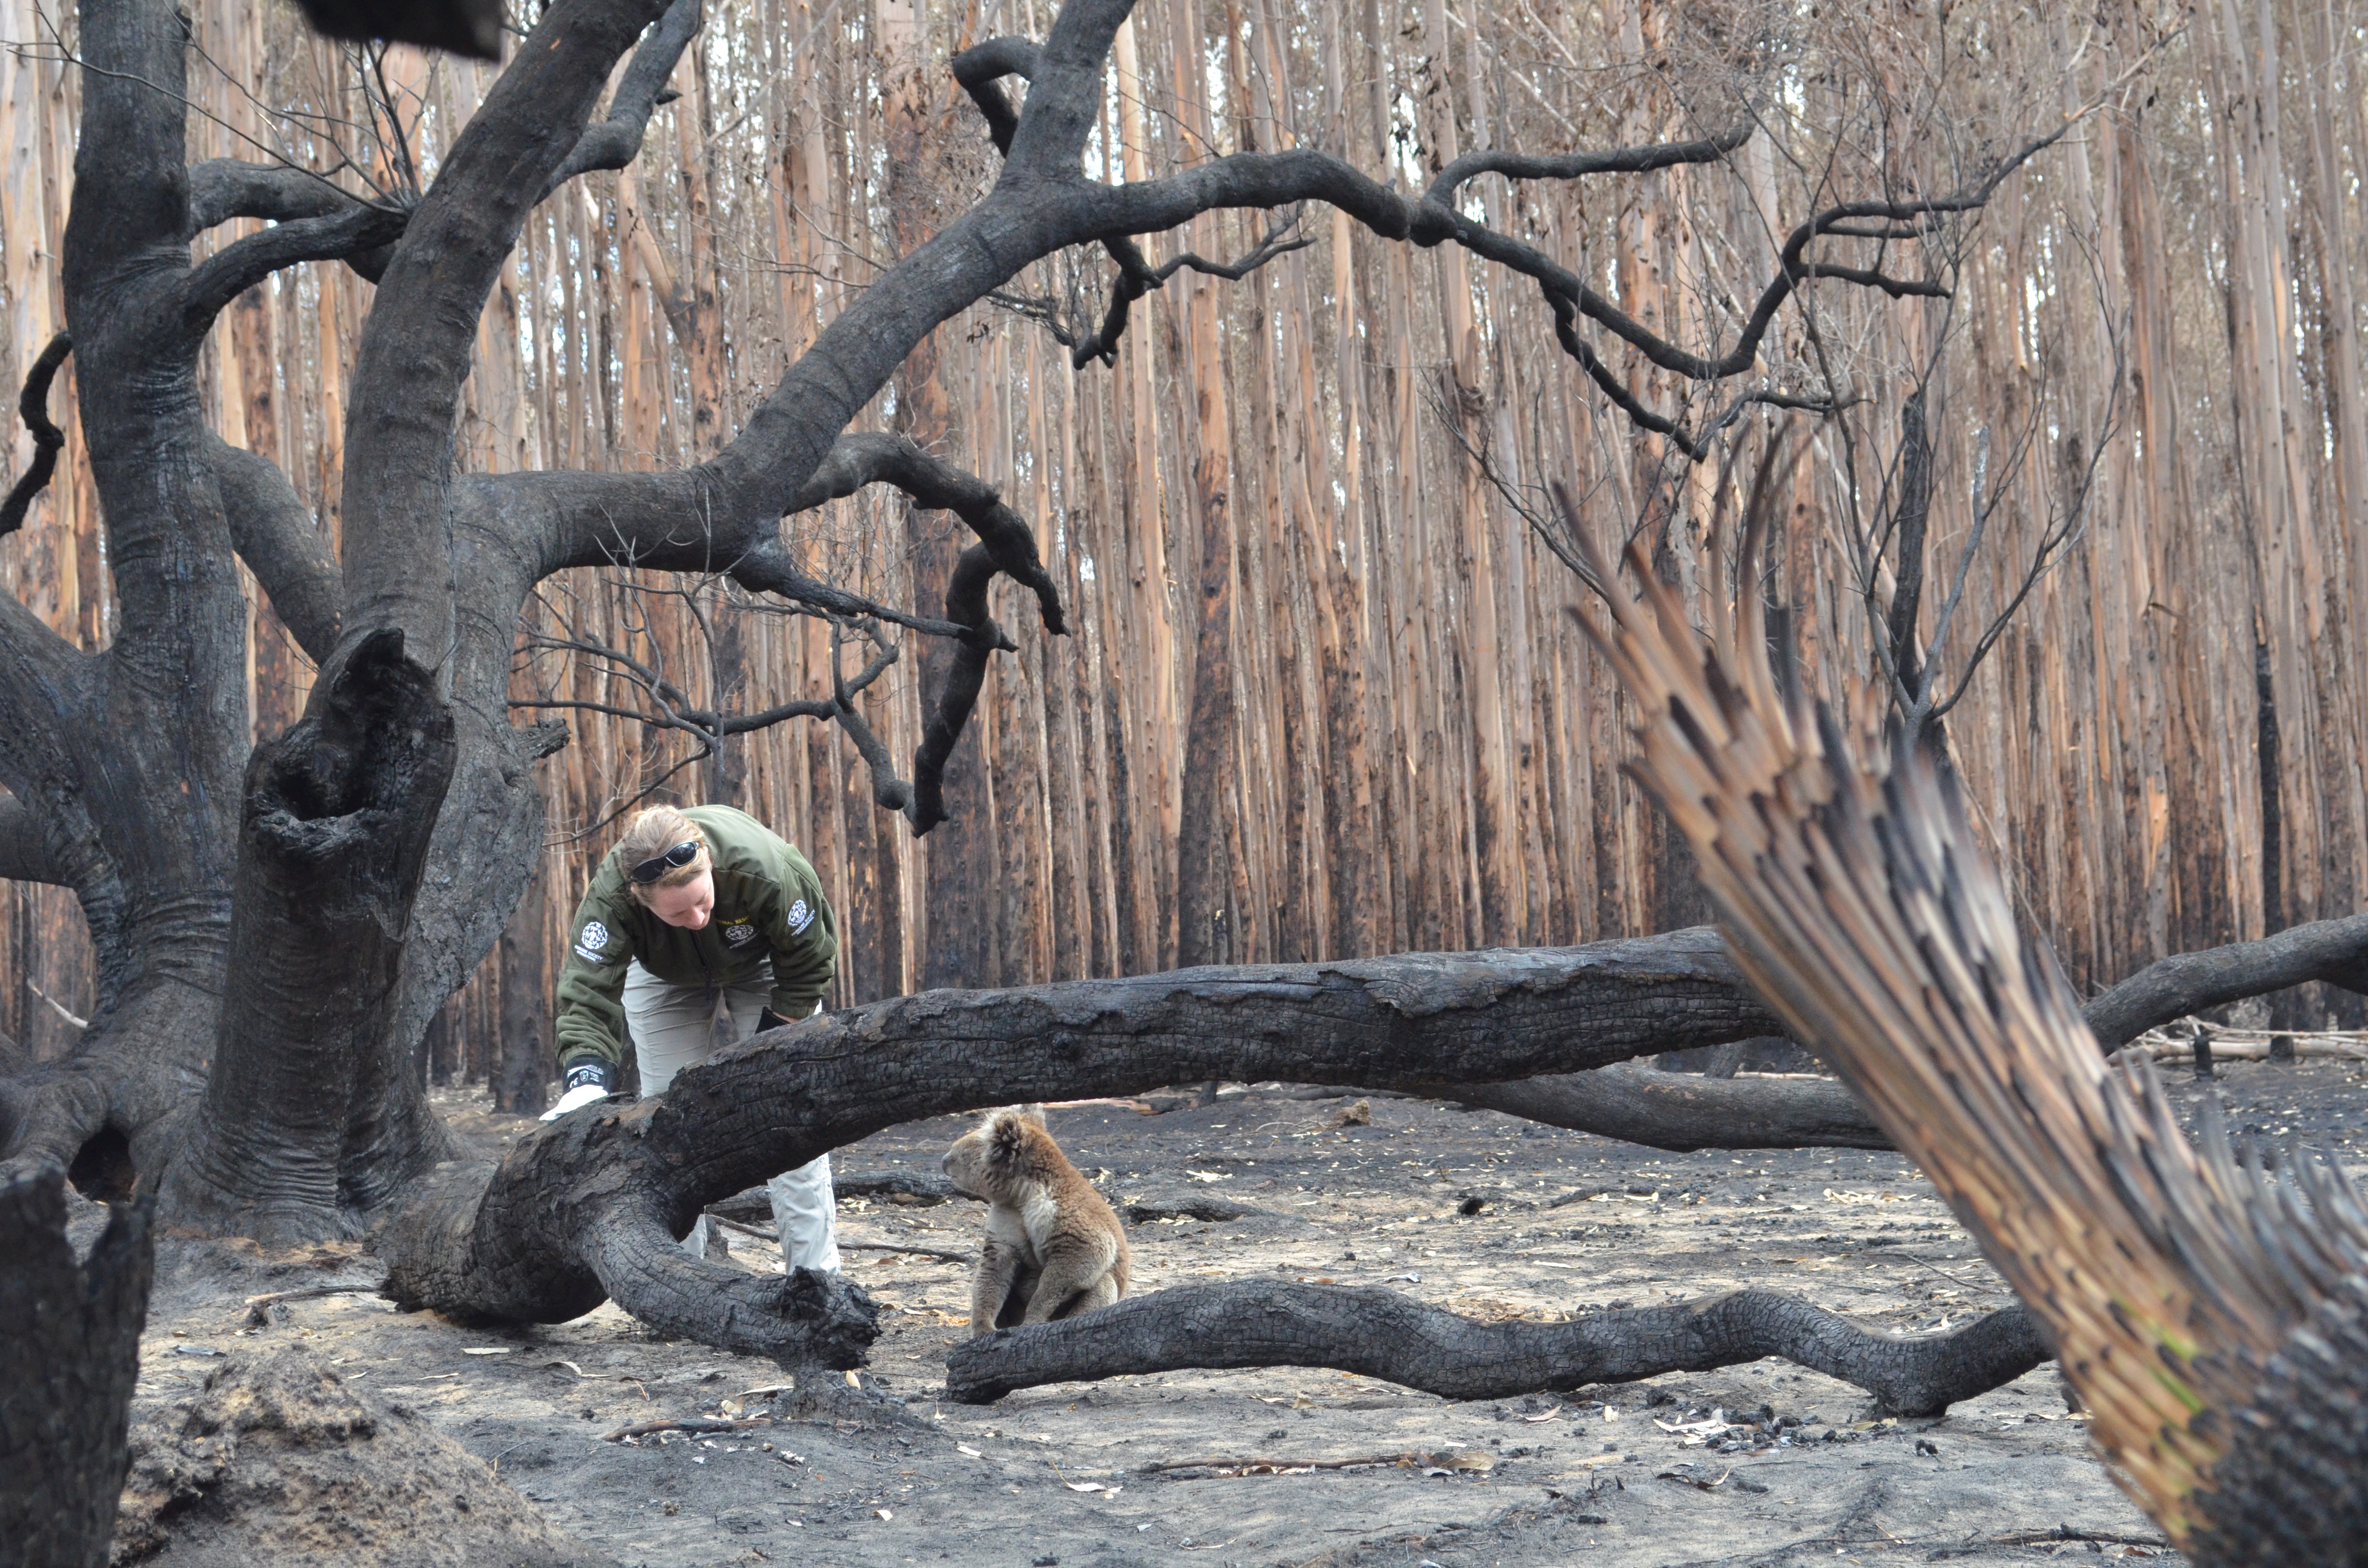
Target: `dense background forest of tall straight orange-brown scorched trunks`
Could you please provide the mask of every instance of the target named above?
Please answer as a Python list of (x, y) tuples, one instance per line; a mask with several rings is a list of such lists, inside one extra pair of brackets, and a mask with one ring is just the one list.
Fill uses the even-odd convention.
[[(462, 462), (708, 455), (852, 291), (995, 178), (945, 62), (999, 31), (1042, 33), (1047, 9), (710, 5), (642, 161), (533, 213), (481, 324)], [(206, 57), (192, 159), (346, 156), (348, 182), (400, 187), (493, 78), (403, 47), (358, 57), (260, 0), (192, 0), (189, 21)], [(36, 0), (0, 0), (0, 38), (19, 45), (0, 57), (7, 386), (62, 322), (78, 83), (57, 26)], [(1755, 372), (1724, 386), (1608, 339), (1606, 362), (1688, 429), (1748, 388), (1840, 403), (1790, 415), (1809, 443), (1771, 583), (1800, 606), (1800, 651), (1828, 689), (1871, 675), (1868, 590), (1885, 609), (1892, 571), (1866, 538), (1897, 481), (1902, 410), (1928, 384), (1935, 578), (1980, 540), (1944, 685), (2036, 554), (2058, 561), (1946, 727), (2027, 924), (2096, 990), (2167, 952), (2359, 910), (2363, 40), (2368, 14), (2332, 0), (1146, 0), (1120, 33), (1089, 175), (1317, 144), (1423, 185), (1475, 147), (1724, 130), (1724, 88), (1759, 71), (1776, 83), (1762, 130), (1724, 163), (1471, 187), (1494, 227), (1717, 353), (1814, 206), (1946, 189), (2089, 107), (1949, 246), (1887, 256), (1892, 272), (1951, 279), (1954, 298), (1812, 284)], [(253, 227), (220, 225), (199, 253)], [(1269, 234), (1257, 213), (1217, 213), (1163, 244), (1238, 258)], [(495, 1042), (547, 1040), (559, 926), (609, 820), (651, 786), (744, 805), (805, 848), (841, 912), (834, 1004), (1703, 919), (1681, 850), (1617, 772), (1622, 699), (1563, 613), (1577, 580), (1527, 514), (1561, 481), (1598, 538), (1643, 531), (1688, 578), (1722, 457), (1688, 464), (1641, 436), (1565, 358), (1527, 279), (1328, 208), (1281, 237), (1307, 244), (1238, 282), (1175, 275), (1137, 306), (1115, 365), (1082, 369), (1058, 336), (1099, 320), (1108, 268), (1042, 263), (947, 322), (857, 424), (999, 486), (1073, 606), (1073, 635), (1051, 637), (997, 604), (1018, 651), (992, 661), (947, 767), (952, 820), (921, 841), (871, 803), (838, 725), (703, 746), (687, 722), (642, 718), (651, 677), (680, 692), (677, 720), (829, 696), (834, 658), (852, 675), (871, 644), (834, 649), (826, 623), (722, 578), (620, 566), (545, 585), (511, 699), (535, 703), (521, 720), (575, 730), (545, 763), (554, 841), (431, 1028), (426, 1071), (474, 1078)], [(223, 313), (204, 369), (213, 429), (277, 460), (332, 542), (367, 298), (343, 265), (287, 270)], [(69, 386), (50, 400), (66, 426), (57, 481), (0, 542), (0, 576), (92, 649), (114, 606)], [(1783, 417), (1750, 405), (1729, 433)], [(12, 476), (31, 452), (12, 431)], [(957, 528), (871, 490), (791, 519), (786, 538), (812, 576), (935, 613)], [(268, 737), (303, 708), (310, 666), (256, 602), (249, 711)], [(942, 663), (914, 642), (857, 696), (900, 756)], [(64, 1014), (88, 1007), (73, 895), (9, 881), (0, 1030), (57, 1056), (76, 1033)], [(2363, 1021), (2340, 990), (2285, 1009)]]

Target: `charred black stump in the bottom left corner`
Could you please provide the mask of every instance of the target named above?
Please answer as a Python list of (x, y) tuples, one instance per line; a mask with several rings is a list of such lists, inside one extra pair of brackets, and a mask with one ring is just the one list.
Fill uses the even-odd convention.
[(154, 1201), (118, 1203), (76, 1262), (66, 1180), (0, 1182), (0, 1551), (99, 1568), (123, 1495), (126, 1419), (154, 1274)]

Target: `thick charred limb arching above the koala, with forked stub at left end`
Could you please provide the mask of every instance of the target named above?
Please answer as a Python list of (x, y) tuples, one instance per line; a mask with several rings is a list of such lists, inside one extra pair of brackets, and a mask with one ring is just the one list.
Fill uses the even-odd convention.
[(1210, 1078), (1442, 1094), (1771, 1023), (1710, 928), (935, 990), (767, 1030), (661, 1099), (538, 1125), (497, 1168), (443, 1168), (384, 1222), (377, 1251), (388, 1296), (462, 1319), (566, 1322), (616, 1296), (663, 1334), (852, 1367), (876, 1334), (860, 1291), (834, 1286), (829, 1303), (786, 1312), (779, 1277), (703, 1265), (668, 1241), (718, 1199), (950, 1111)]

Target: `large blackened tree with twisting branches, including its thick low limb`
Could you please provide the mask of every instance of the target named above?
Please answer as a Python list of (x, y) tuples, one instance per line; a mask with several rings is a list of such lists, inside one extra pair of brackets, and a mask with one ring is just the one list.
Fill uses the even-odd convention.
[[(673, 1239), (706, 1203), (774, 1170), (976, 1104), (1217, 1075), (1440, 1092), (1774, 1030), (1707, 933), (931, 992), (774, 1035), (682, 1075), (658, 1101), (578, 1113), (500, 1170), (438, 1170), (452, 1142), (424, 1101), (414, 1045), (516, 907), (545, 838), (535, 763), (566, 744), (556, 722), (509, 720), (519, 611), (538, 583), (616, 561), (720, 573), (850, 635), (893, 625), (938, 640), (950, 656), (935, 661), (909, 777), (845, 687), (760, 715), (677, 718), (703, 734), (793, 715), (841, 722), (879, 803), (916, 834), (961, 810), (945, 796), (945, 765), (992, 656), (1011, 647), (987, 587), (997, 576), (1028, 587), (1047, 632), (1063, 630), (1058, 590), (1028, 519), (992, 486), (850, 426), (935, 327), (1035, 261), (1087, 246), (1115, 270), (1101, 324), (1075, 334), (1087, 367), (1120, 351), (1130, 303), (1177, 268), (1238, 272), (1274, 251), (1156, 263), (1146, 237), (1158, 249), (1156, 237), (1215, 208), (1326, 201), (1385, 239), (1456, 244), (1532, 279), (1603, 396), (1700, 460), (1755, 403), (1804, 398), (1752, 384), (1722, 391), (1700, 419), (1655, 410), (1606, 362), (1601, 334), (1724, 388), (1752, 372), (1771, 324), (1816, 277), (1944, 294), (1937, 277), (1885, 272), (1883, 256), (1980, 208), (2053, 140), (1954, 194), (1838, 201), (1804, 218), (1776, 272), (1750, 287), (1736, 341), (1695, 353), (1475, 218), (1463, 192), (1482, 175), (1712, 163), (1750, 137), (1748, 121), (1610, 152), (1471, 152), (1423, 189), (1314, 147), (1099, 182), (1085, 152), (1127, 9), (1070, 0), (1042, 40), (995, 38), (952, 62), (1002, 154), (992, 189), (852, 296), (708, 462), (466, 474), (452, 462), (462, 384), (521, 223), (568, 180), (637, 156), (699, 31), (699, 0), (549, 5), (414, 201), (287, 166), (192, 166), (189, 38), (173, 5), (81, 5), (83, 121), (59, 265), (121, 630), (81, 651), (0, 599), (0, 872), (71, 888), (97, 952), (78, 1049), (0, 1078), (7, 1172), (69, 1170), (97, 1196), (154, 1191), (170, 1225), (268, 1244), (369, 1229), (391, 1289), (457, 1317), (549, 1322), (606, 1296), (670, 1334), (848, 1367), (871, 1338), (862, 1291), (753, 1279), (691, 1260)], [(272, 227), (192, 263), (192, 237), (232, 218)], [(279, 270), (322, 263), (377, 282), (346, 398), (336, 557), (272, 462), (206, 429), (197, 396), (215, 315)], [(43, 405), (66, 351), (62, 341), (26, 386), (36, 431), (52, 429)], [(24, 478), (5, 526), (24, 521), (38, 486)], [(800, 571), (781, 519), (864, 486), (950, 509), (976, 535), (942, 606), (874, 604)], [(239, 564), (320, 666), (301, 722), (253, 748)], [(649, 694), (673, 701), (656, 685)], [(2356, 955), (2354, 936), (2328, 964)]]

